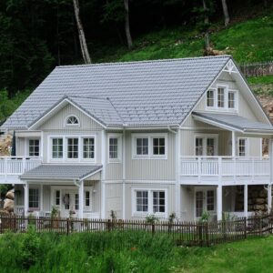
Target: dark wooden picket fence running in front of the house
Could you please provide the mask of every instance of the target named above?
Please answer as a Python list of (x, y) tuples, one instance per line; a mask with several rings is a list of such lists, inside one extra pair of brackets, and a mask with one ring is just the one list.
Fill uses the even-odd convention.
[(75, 232), (146, 231), (166, 234), (179, 245), (211, 246), (248, 237), (272, 233), (273, 216), (238, 217), (217, 222), (147, 223), (143, 220), (111, 220), (0, 216), (0, 233), (25, 232), (32, 225), (37, 232), (58, 232), (66, 235)]

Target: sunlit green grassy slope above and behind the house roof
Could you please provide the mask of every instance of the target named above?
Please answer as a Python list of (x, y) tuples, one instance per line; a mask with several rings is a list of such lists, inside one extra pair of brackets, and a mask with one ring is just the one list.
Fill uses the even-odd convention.
[[(215, 24), (211, 29), (214, 49), (234, 56), (238, 63), (273, 60), (273, 9), (264, 15), (227, 28)], [(203, 56), (202, 35), (193, 26), (162, 29), (136, 37), (134, 49), (103, 45), (94, 50), (96, 62), (140, 61)]]

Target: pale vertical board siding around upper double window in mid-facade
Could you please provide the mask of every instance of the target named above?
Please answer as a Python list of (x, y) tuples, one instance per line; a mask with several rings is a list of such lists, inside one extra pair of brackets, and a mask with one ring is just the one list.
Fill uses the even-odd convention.
[(126, 180), (175, 180), (176, 136), (167, 133), (167, 159), (133, 159), (132, 132), (126, 134)]

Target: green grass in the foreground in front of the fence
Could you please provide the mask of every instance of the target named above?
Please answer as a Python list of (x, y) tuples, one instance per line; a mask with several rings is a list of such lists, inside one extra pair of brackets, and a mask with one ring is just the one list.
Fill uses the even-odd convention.
[(5, 234), (1, 272), (272, 272), (273, 237), (212, 248), (177, 247), (145, 232)]

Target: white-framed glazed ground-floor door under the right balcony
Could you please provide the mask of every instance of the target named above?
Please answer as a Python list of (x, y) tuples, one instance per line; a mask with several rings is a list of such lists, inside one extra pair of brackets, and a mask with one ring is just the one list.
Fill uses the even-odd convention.
[(208, 212), (210, 217), (216, 213), (216, 198), (213, 188), (197, 188), (195, 199), (195, 214), (197, 219), (202, 217), (204, 212)]

